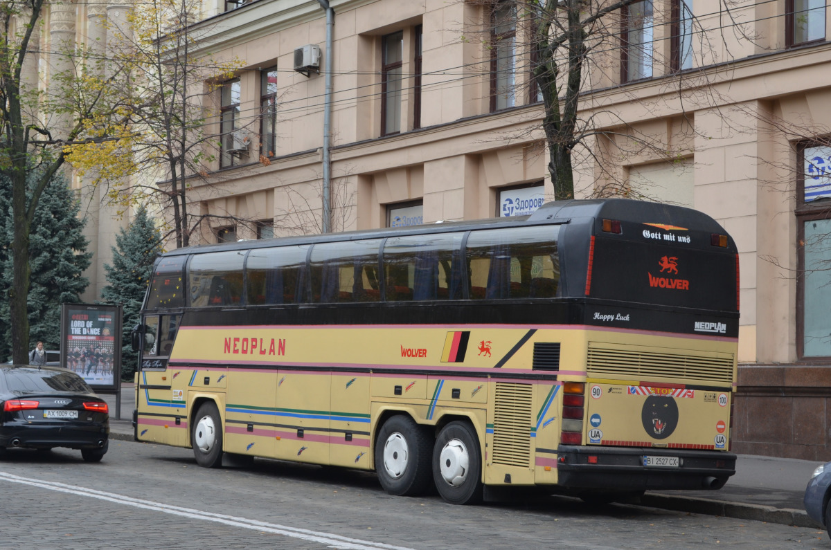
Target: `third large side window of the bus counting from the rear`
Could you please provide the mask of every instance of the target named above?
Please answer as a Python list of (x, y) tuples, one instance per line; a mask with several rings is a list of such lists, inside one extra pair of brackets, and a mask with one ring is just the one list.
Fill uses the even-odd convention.
[(312, 302), (378, 302), (381, 239), (316, 244), (312, 248)]

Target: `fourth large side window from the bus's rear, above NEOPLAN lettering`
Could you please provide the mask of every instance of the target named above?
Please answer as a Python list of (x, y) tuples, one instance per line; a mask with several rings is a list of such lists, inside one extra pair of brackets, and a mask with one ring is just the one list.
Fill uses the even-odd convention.
[(280, 304), (302, 302), (302, 273), (306, 267), (307, 245), (259, 248), (248, 253), (248, 303)]

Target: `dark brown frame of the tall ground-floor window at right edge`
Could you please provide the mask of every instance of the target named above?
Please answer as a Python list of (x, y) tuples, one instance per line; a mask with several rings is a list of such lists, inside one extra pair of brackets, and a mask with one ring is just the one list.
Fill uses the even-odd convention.
[(805, 150), (818, 145), (831, 146), (831, 139), (805, 140), (796, 144), (796, 354), (801, 362), (827, 363), (829, 356), (805, 356), (805, 223), (831, 219), (831, 198), (819, 204), (805, 202)]

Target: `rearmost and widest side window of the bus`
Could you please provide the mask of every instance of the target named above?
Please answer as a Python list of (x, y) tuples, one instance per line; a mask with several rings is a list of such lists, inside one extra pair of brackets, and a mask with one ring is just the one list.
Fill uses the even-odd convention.
[(557, 295), (559, 226), (473, 231), (465, 252), (471, 300)]

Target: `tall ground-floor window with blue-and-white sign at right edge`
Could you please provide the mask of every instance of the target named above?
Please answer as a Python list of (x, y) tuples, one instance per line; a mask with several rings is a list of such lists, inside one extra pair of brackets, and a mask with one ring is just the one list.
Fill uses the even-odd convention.
[(831, 357), (831, 146), (800, 145), (797, 178), (799, 357)]

